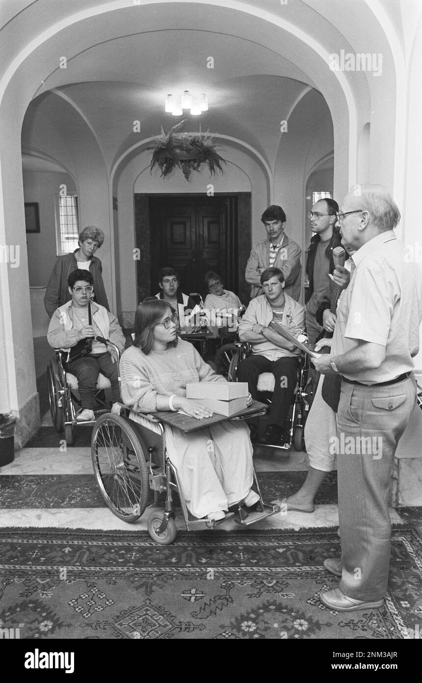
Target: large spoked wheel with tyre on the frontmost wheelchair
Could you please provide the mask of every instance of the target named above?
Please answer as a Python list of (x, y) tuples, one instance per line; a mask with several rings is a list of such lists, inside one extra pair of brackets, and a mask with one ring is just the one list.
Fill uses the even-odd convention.
[(108, 507), (125, 522), (134, 522), (147, 507), (149, 477), (142, 445), (127, 420), (102, 415), (93, 428), (91, 456)]

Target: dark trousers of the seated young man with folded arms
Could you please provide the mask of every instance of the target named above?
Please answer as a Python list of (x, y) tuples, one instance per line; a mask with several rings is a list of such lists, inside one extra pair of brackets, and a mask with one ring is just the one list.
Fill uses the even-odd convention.
[(247, 382), (254, 399), (258, 393), (258, 377), (262, 372), (272, 372), (275, 377), (269, 423), (284, 427), (297, 385), (297, 358), (283, 357), (277, 361), (269, 361), (265, 356), (252, 354), (242, 361), (237, 376), (239, 382)]

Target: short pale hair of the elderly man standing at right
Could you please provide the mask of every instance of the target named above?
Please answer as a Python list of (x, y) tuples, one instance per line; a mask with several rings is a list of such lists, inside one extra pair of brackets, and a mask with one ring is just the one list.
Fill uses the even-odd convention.
[(367, 211), (374, 223), (380, 230), (392, 230), (400, 222), (400, 211), (393, 197), (382, 185), (374, 183), (367, 185), (355, 185), (347, 193), (346, 197), (352, 199), (353, 206)]

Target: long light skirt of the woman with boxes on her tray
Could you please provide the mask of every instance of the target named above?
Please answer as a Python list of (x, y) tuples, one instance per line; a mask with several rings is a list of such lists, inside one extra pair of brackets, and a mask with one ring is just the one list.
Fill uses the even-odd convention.
[[(157, 424), (133, 411), (130, 419), (160, 432)], [(194, 517), (228, 510), (245, 498), (254, 478), (250, 430), (245, 423), (224, 421), (190, 434), (163, 426), (168, 457)]]

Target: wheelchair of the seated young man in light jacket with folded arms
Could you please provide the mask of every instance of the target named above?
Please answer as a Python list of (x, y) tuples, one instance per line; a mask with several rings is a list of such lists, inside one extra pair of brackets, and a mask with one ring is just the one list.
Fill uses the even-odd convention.
[[(237, 381), (237, 368), (239, 363), (247, 358), (251, 353), (248, 342), (235, 342), (222, 346), (215, 356), (217, 372), (226, 376), (229, 382)], [(310, 359), (304, 352), (299, 356), (297, 367), (297, 385), (295, 395), (290, 406), (287, 418), (288, 436), (284, 443), (271, 444), (271, 448), (290, 450), (292, 445), (296, 451), (305, 451), (305, 438), (303, 435), (305, 421), (312, 404), (313, 394), (310, 391), (310, 379), (308, 374), (310, 369)], [(263, 399), (271, 405), (271, 393), (274, 391), (275, 378), (271, 372), (262, 372), (258, 378), (258, 391), (263, 394)], [(259, 440), (255, 441), (259, 445)]]

